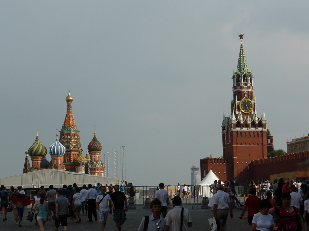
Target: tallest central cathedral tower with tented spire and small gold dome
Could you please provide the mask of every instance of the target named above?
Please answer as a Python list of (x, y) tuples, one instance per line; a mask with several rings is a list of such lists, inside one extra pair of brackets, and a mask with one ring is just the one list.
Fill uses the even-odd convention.
[(66, 118), (62, 125), (62, 129), (60, 131), (59, 142), (64, 145), (66, 148), (66, 153), (64, 154), (64, 162), (63, 164), (66, 167), (66, 171), (75, 172), (75, 165), (73, 160), (76, 156), (78, 156), (79, 149), (81, 148), (80, 139), (79, 139), (79, 131), (77, 130), (74, 116), (72, 113), (72, 102), (73, 98), (70, 95), (66, 97)]

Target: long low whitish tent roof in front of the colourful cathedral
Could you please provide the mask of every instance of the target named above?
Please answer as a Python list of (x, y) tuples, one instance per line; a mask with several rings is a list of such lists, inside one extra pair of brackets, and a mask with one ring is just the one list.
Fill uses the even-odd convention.
[(68, 185), (73, 183), (81, 187), (83, 184), (92, 184), (92, 186), (95, 186), (98, 182), (102, 185), (124, 184), (123, 181), (115, 178), (67, 172), (57, 169), (43, 169), (0, 178), (0, 185), (3, 184), (6, 188), (10, 188), (11, 185), (13, 185), (14, 188), (17, 188), (19, 185), (22, 185), (23, 188), (40, 188), (41, 185), (48, 188), (51, 184), (54, 188), (61, 188), (63, 184)]

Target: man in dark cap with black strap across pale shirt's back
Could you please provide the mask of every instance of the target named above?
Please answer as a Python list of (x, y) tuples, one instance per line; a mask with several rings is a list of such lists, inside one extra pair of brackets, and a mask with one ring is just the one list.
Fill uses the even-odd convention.
[[(181, 230), (181, 210), (184, 209), (180, 207), (181, 205), (181, 198), (175, 196), (172, 200), (172, 204), (174, 209), (168, 211), (166, 214), (166, 227), (165, 231), (170, 230), (171, 224), (173, 225), (173, 230)], [(183, 223), (182, 223), (182, 230), (189, 231), (188, 228), (192, 227), (192, 221), (190, 217), (190, 213), (188, 209), (184, 209), (183, 213)]]

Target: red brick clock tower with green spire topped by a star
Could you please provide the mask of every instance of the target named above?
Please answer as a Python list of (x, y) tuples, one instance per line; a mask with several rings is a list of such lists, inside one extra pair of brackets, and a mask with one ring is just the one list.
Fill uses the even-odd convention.
[(267, 126), (263, 115), (257, 115), (253, 96), (253, 74), (248, 70), (240, 33), (237, 70), (233, 71), (231, 113), (222, 121), (223, 158), (226, 158), (226, 179), (251, 180), (250, 162), (267, 158)]

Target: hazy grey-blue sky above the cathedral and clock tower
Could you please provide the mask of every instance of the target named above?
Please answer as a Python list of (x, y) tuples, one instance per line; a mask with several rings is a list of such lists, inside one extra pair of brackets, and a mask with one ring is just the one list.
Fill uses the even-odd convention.
[(0, 1), (0, 178), (22, 173), (37, 125), (41, 143), (54, 143), (70, 89), (84, 156), (95, 125), (101, 154), (118, 149), (118, 178), (125, 146), (126, 181), (191, 184), (193, 165), (222, 156), (240, 32), (257, 114), (265, 108), (274, 148), (286, 151), (309, 133), (308, 5)]

